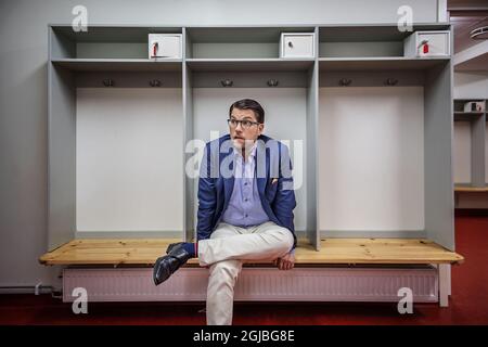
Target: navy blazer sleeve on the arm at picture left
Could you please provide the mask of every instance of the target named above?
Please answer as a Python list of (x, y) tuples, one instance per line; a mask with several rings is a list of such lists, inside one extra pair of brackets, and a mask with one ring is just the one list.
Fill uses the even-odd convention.
[(216, 178), (210, 176), (209, 146), (205, 146), (204, 156), (200, 169), (198, 178), (198, 213), (196, 223), (197, 240), (205, 240), (210, 236), (213, 221), (216, 214)]

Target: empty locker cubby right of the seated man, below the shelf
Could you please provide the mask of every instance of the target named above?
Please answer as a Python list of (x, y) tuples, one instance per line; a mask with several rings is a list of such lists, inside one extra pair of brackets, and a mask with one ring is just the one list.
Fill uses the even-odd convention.
[(321, 237), (453, 247), (450, 60), (319, 64)]

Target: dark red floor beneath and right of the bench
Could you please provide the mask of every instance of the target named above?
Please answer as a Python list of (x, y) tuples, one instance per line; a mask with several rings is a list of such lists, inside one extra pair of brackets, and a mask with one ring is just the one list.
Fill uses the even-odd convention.
[[(234, 324), (488, 324), (488, 217), (455, 218), (457, 252), (448, 308), (416, 304), (399, 314), (396, 304), (236, 304)], [(74, 314), (50, 295), (0, 295), (0, 324), (205, 324), (204, 304), (90, 304)]]

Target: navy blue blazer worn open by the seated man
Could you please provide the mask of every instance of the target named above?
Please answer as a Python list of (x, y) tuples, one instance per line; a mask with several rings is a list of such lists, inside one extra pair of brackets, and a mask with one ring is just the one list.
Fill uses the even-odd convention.
[[(262, 208), (269, 220), (293, 233), (295, 240), (293, 248), (295, 248), (296, 235), (293, 222), (295, 191), (283, 189), (293, 187), (288, 149), (283, 143), (262, 134), (257, 142), (255, 166)], [(228, 172), (233, 170), (233, 156), (229, 157), (232, 153), (230, 134), (210, 141), (205, 146), (198, 178), (197, 240), (210, 236), (229, 204), (234, 178), (233, 175), (226, 175), (221, 168), (227, 165)]]

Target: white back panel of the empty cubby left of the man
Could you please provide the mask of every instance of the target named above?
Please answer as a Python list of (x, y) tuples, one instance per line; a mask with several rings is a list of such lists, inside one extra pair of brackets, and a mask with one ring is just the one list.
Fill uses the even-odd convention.
[(78, 89), (78, 231), (182, 230), (181, 117), (181, 89)]

